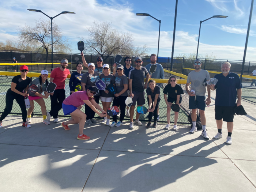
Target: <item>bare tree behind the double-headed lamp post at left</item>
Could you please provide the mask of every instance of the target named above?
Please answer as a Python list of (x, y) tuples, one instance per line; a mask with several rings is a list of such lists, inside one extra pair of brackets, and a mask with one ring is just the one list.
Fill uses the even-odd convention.
[[(64, 39), (60, 27), (54, 22), (52, 23), (53, 32), (53, 50), (55, 52), (71, 52), (71, 45), (68, 39)], [(25, 48), (38, 49), (46, 52), (46, 62), (48, 53), (51, 52), (52, 33), (50, 20), (39, 19), (35, 20), (35, 26), (22, 27), (18, 30), (19, 44)]]

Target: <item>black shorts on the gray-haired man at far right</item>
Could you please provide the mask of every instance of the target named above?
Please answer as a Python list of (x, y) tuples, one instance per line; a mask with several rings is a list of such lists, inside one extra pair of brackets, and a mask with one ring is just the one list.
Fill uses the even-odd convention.
[(226, 122), (234, 121), (234, 107), (218, 106), (215, 105), (215, 119)]

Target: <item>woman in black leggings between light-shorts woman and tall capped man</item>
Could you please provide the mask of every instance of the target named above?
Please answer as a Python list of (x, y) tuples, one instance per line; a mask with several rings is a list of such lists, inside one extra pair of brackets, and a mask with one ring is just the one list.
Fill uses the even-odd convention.
[(125, 99), (127, 98), (127, 89), (128, 89), (128, 79), (127, 76), (124, 75), (124, 66), (117, 65), (116, 66), (117, 73), (115, 76), (115, 84), (116, 84), (116, 94), (114, 94), (113, 106), (120, 106), (120, 119), (117, 123), (117, 115), (113, 116), (113, 122), (110, 124), (110, 127), (120, 127), (123, 125), (124, 115), (125, 115)]

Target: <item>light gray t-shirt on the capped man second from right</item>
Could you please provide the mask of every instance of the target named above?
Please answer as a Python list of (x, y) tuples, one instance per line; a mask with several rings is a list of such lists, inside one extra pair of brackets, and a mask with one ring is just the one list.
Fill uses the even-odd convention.
[(191, 90), (195, 91), (198, 96), (205, 96), (206, 85), (203, 85), (206, 80), (210, 79), (208, 71), (201, 69), (199, 72), (191, 71), (188, 74), (187, 83), (191, 82)]

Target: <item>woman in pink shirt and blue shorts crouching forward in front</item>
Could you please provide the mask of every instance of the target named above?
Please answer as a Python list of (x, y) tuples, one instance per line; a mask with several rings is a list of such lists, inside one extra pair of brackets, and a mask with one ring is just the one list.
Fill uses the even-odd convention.
[[(80, 109), (84, 103), (90, 106), (90, 108), (100, 117), (104, 117), (107, 114), (93, 99), (93, 95), (97, 94), (97, 92), (97, 87), (90, 86), (87, 91), (76, 91), (75, 93), (69, 95), (62, 103), (64, 115), (71, 114), (72, 119), (61, 123), (61, 126), (68, 131), (70, 130), (68, 124), (79, 123), (79, 134), (77, 136), (77, 139), (90, 139), (89, 136), (83, 134), (86, 114), (80, 111)], [(102, 113), (100, 113), (97, 109), (100, 110)]]

